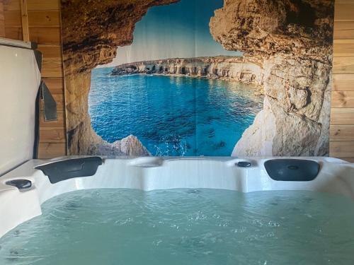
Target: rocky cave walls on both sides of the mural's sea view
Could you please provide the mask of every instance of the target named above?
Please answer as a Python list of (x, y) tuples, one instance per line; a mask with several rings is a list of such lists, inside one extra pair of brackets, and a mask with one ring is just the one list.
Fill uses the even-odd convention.
[[(97, 154), (113, 145), (91, 127), (91, 69), (110, 63), (118, 46), (132, 44), (135, 23), (148, 8), (177, 1), (62, 1), (68, 154)], [(232, 155), (328, 155), (333, 11), (333, 0), (224, 0), (215, 11), (212, 37), (224, 49), (244, 52), (234, 64), (235, 79), (258, 83), (265, 93), (263, 110)], [(237, 69), (244, 66), (242, 75)], [(214, 69), (224, 76), (222, 67)], [(132, 137), (122, 153), (138, 143)], [(144, 155), (140, 147), (135, 153)]]

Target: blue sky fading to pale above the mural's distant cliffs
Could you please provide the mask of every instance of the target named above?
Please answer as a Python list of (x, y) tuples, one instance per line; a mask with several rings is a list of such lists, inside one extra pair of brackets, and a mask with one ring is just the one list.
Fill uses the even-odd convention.
[(149, 8), (135, 25), (132, 45), (118, 47), (117, 57), (104, 67), (175, 57), (241, 55), (223, 49), (210, 35), (210, 18), (222, 6), (223, 0), (181, 0)]

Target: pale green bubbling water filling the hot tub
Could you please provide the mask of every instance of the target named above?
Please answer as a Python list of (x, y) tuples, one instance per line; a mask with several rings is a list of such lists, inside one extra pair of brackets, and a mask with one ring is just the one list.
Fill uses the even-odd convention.
[(349, 265), (354, 202), (316, 192), (91, 189), (0, 239), (1, 265)]

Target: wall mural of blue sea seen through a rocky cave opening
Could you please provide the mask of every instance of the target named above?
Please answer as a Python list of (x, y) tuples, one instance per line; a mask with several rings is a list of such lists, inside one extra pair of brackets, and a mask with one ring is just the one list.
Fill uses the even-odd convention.
[(330, 0), (62, 0), (69, 155), (328, 155)]

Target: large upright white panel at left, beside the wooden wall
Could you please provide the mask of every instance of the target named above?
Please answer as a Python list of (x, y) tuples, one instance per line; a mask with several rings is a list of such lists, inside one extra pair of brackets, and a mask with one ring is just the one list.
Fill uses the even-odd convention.
[(40, 71), (26, 47), (0, 38), (0, 175), (33, 157)]

